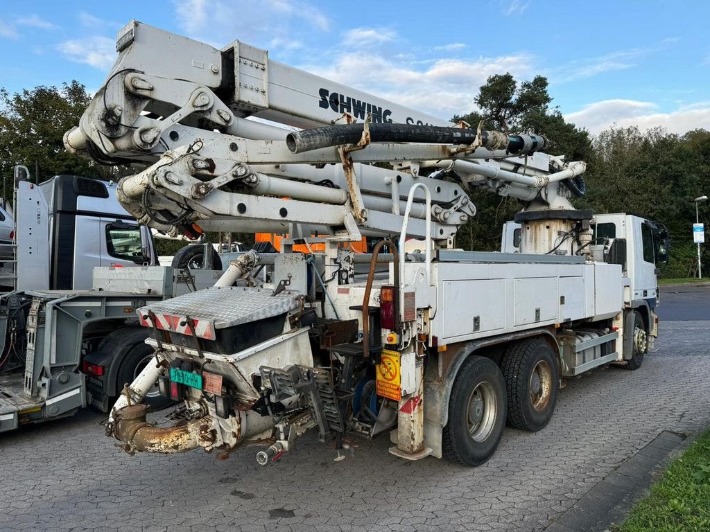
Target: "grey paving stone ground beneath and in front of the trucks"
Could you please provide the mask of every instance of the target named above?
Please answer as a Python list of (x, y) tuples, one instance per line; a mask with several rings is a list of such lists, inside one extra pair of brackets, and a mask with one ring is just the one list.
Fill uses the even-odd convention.
[(119, 453), (102, 415), (0, 436), (0, 531), (542, 531), (661, 431), (710, 425), (710, 321), (667, 321), (643, 367), (572, 379), (540, 433), (508, 428), (485, 465), (356, 455), (307, 437), (278, 465)]

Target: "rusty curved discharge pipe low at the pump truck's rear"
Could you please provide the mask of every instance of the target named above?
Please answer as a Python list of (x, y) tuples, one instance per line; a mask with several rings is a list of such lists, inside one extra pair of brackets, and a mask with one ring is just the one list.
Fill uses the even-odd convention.
[(137, 451), (184, 453), (200, 445), (214, 443), (209, 417), (192, 419), (185, 425), (156, 427), (146, 422), (147, 411), (144, 404), (124, 406), (116, 411), (114, 436), (124, 443), (124, 450), (131, 455)]

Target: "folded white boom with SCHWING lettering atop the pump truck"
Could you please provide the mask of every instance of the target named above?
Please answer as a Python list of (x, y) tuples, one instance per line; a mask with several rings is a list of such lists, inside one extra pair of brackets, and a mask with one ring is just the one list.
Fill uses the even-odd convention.
[[(511, 156), (508, 136), (500, 133), (483, 132), (498, 139), (484, 148), (481, 131), (468, 145), (370, 143), (364, 133), (357, 145), (293, 153), (285, 140), (294, 127), (359, 121), (451, 132), (453, 125), (274, 62), (266, 50), (240, 41), (217, 50), (131, 21), (116, 50), (116, 65), (65, 145), (99, 162), (150, 165), (121, 182), (119, 200), (141, 223), (173, 235), (189, 232), (192, 223), (206, 231), (338, 240), (394, 235), (410, 189), (422, 184), (432, 206), (417, 192), (408, 236), (423, 238), (430, 225), (437, 246), (450, 246), (476, 213), (466, 189), (486, 187), (528, 206), (564, 210), (570, 193), (560, 183), (584, 172), (584, 163), (535, 153), (535, 139), (527, 136), (519, 137), (524, 148), (516, 152), (525, 158)], [(376, 162), (393, 170), (371, 166)]]

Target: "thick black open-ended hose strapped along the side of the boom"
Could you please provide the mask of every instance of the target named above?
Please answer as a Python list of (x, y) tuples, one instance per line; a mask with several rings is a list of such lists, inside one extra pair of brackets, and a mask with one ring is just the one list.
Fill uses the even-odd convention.
[[(471, 144), (477, 132), (471, 128), (441, 126), (413, 126), (402, 123), (371, 123), (373, 143)], [(293, 131), (286, 136), (286, 145), (293, 153), (330, 148), (359, 142), (364, 123), (339, 124), (322, 128)], [(529, 155), (542, 150), (549, 142), (542, 135), (505, 135), (498, 131), (482, 131), (481, 147), (489, 150), (508, 150), (512, 155)]]

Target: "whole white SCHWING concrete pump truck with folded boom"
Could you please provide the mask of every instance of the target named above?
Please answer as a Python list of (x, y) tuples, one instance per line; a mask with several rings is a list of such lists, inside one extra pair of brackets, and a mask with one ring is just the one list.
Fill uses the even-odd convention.
[[(155, 360), (107, 425), (129, 453), (262, 445), (267, 464), (313, 428), (338, 450), (389, 431), (394, 455), (479, 465), (506, 421), (545, 427), (562, 379), (640, 367), (667, 235), (574, 209), (585, 164), (542, 153), (545, 138), (454, 125), (239, 41), (131, 21), (116, 50), (67, 149), (145, 162), (118, 197), (153, 228), (289, 235), (214, 287), (138, 309)], [(520, 253), (454, 248), (475, 187), (520, 200)], [(370, 254), (349, 247), (363, 236), (381, 238)], [(156, 380), (180, 401), (174, 426), (146, 420)]]

